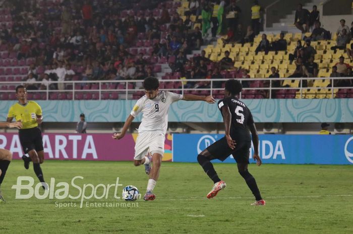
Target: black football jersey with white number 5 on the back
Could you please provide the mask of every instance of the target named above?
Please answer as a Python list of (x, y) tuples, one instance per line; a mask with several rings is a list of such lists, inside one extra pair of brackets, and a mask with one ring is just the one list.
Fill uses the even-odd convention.
[[(231, 114), (230, 136), (236, 141), (251, 140), (248, 126), (254, 123), (249, 108), (238, 98), (229, 97), (218, 101), (218, 108), (228, 107)], [(223, 116), (223, 114), (222, 114)], [(224, 117), (223, 117), (224, 118)]]

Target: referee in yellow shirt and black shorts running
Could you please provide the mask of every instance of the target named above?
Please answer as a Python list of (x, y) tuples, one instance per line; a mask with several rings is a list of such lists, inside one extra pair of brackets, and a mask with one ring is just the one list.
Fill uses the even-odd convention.
[(39, 181), (43, 185), (43, 189), (47, 188), (44, 184), (44, 177), (40, 164), (44, 162), (42, 133), (38, 128), (38, 124), (42, 123), (42, 109), (33, 101), (27, 100), (27, 90), (24, 86), (16, 87), (16, 97), (18, 103), (12, 105), (9, 110), (7, 122), (11, 122), (13, 118), (22, 122), (22, 129), (19, 129), (19, 137), (22, 149), (25, 155), (22, 159), (25, 162), (25, 168), (29, 168), (29, 162), (33, 162), (33, 169)]

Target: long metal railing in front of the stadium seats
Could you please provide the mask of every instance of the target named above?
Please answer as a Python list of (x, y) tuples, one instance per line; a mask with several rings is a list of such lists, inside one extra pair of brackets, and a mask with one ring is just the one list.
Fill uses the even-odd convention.
[[(325, 90), (326, 93), (329, 92), (329, 96), (327, 98), (335, 98), (336, 93), (338, 90), (349, 90), (351, 91), (351, 93), (353, 94), (353, 87), (334, 87), (334, 81), (336, 80), (350, 80), (353, 79), (353, 77), (302, 77), (302, 78), (250, 78), (250, 79), (238, 79), (242, 84), (244, 84), (245, 82), (267, 82), (269, 87), (250, 87), (250, 88), (243, 88), (243, 92), (240, 94), (240, 98), (242, 98), (242, 95), (244, 93), (246, 93), (247, 91), (250, 90), (258, 90), (258, 91), (268, 91), (266, 96), (267, 97), (263, 97), (265, 99), (271, 99), (273, 98), (273, 93), (275, 93), (275, 91), (278, 90), (285, 90), (285, 91), (296, 91), (296, 94), (300, 94), (300, 97), (297, 98), (303, 98), (303, 95), (305, 95), (305, 93), (310, 93), (307, 92), (307, 90)], [(192, 91), (206, 91), (203, 92), (204, 95), (206, 94), (210, 94), (210, 95), (214, 95), (214, 93), (218, 95), (221, 95), (221, 93), (219, 93), (219, 91), (224, 90), (224, 88), (213, 88), (214, 87), (214, 83), (215, 82), (223, 82), (223, 86), (224, 87), (224, 82), (227, 81), (229, 79), (192, 79), (192, 80), (159, 80), (160, 84), (165, 84), (165, 83), (173, 83), (173, 84), (180, 84), (180, 86), (178, 88), (175, 87), (169, 87), (169, 88), (165, 88), (165, 85), (163, 85), (163, 88), (160, 88), (161, 91), (172, 91), (172, 92), (178, 92), (181, 94), (184, 93), (190, 93)], [(274, 81), (297, 81), (299, 80), (299, 87), (272, 87), (272, 83)], [(326, 86), (326, 87), (320, 87), (320, 86), (316, 86), (316, 87), (303, 87), (303, 81), (312, 81), (314, 83), (314, 81), (316, 80), (321, 80), (321, 81), (330, 81), (330, 85)], [(126, 80), (126, 81), (65, 81), (65, 82), (58, 82), (58, 81), (50, 81), (45, 83), (46, 89), (45, 90), (28, 90), (28, 93), (39, 93), (39, 94), (46, 94), (46, 98), (44, 100), (51, 100), (50, 95), (51, 93), (71, 93), (72, 94), (72, 98), (70, 100), (75, 100), (75, 94), (80, 94), (80, 93), (96, 93), (98, 95), (98, 97), (95, 100), (101, 100), (102, 99), (102, 93), (119, 93), (121, 95), (124, 95), (124, 98), (119, 98), (119, 99), (125, 99), (125, 100), (130, 100), (132, 96), (132, 94), (136, 94), (136, 92), (143, 92), (144, 90), (142, 88), (140, 89), (134, 89), (134, 88), (129, 88), (129, 84), (139, 84), (140, 86), (142, 86), (142, 82), (143, 80)], [(198, 83), (198, 82), (207, 82), (209, 83), (210, 88), (187, 88), (188, 86), (187, 83), (188, 82), (192, 82), (192, 83)], [(107, 85), (108, 84), (123, 84), (123, 88), (119, 88), (119, 86), (116, 89), (107, 89)], [(327, 83), (327, 82), (326, 82)], [(43, 82), (0, 82), (0, 94), (10, 94), (10, 93), (15, 93), (15, 87), (18, 85), (34, 85), (34, 84), (44, 84)], [(65, 90), (51, 90), (49, 89), (49, 85), (50, 84), (66, 84), (66, 89)], [(87, 84), (96, 84), (97, 89), (82, 89), (82, 87), (84, 87)], [(105, 85), (105, 88), (103, 89), (102, 86), (103, 84)], [(6, 88), (4, 88), (4, 86)], [(72, 86), (72, 88), (71, 88)], [(117, 85), (116, 85), (117, 86)], [(115, 87), (116, 87), (115, 86)], [(251, 85), (250, 85), (251, 86)], [(13, 89), (7, 89), (12, 87)], [(70, 87), (68, 89), (68, 87)], [(79, 87), (79, 88), (78, 88)], [(77, 99), (77, 98), (76, 98)], [(109, 98), (108, 98), (109, 99)], [(0, 100), (4, 100), (0, 97)], [(10, 99), (11, 100), (11, 99)], [(57, 100), (57, 98), (55, 99)], [(83, 99), (80, 99), (83, 100)]]

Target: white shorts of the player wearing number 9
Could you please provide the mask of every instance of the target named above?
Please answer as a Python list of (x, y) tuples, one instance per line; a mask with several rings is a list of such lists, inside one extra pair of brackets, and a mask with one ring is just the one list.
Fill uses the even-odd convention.
[(163, 133), (139, 133), (135, 144), (134, 160), (142, 160), (149, 152), (164, 154), (165, 135)]

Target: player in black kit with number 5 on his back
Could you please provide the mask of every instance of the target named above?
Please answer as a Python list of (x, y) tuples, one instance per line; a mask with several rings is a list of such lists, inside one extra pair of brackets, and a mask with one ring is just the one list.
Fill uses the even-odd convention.
[(261, 159), (258, 149), (259, 137), (253, 116), (248, 107), (237, 98), (242, 89), (243, 86), (239, 81), (228, 80), (225, 82), (225, 98), (218, 102), (225, 126), (225, 136), (203, 150), (197, 156), (197, 161), (214, 183), (207, 198), (215, 197), (226, 186), (225, 182), (219, 179), (210, 161), (215, 159), (224, 161), (232, 154), (237, 162), (240, 175), (255, 196), (256, 202), (252, 205), (265, 205), (266, 202), (260, 195), (255, 178), (248, 171), (251, 139), (254, 145), (253, 158), (257, 161), (258, 166), (261, 165)]

